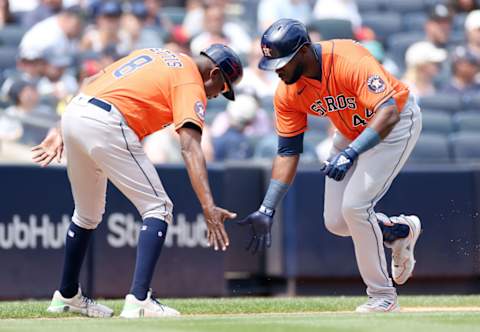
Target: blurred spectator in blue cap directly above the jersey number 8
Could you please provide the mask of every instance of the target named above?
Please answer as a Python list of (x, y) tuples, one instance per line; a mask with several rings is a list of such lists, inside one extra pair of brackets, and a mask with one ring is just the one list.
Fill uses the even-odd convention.
[(163, 40), (158, 30), (145, 25), (148, 15), (147, 7), (143, 2), (135, 1), (130, 4), (129, 10), (122, 17), (122, 29), (130, 37), (132, 50), (147, 47), (162, 47)]

